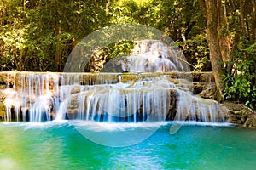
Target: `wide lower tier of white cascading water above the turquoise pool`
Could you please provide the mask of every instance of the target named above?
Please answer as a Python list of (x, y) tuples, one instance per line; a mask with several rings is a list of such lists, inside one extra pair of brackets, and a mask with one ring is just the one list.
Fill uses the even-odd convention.
[(15, 86), (4, 90), (5, 121), (44, 122), (66, 118), (96, 122), (155, 122), (174, 118), (225, 121), (218, 102), (193, 96), (184, 91), (183, 84), (165, 75), (147, 78), (143, 75), (122, 82), (116, 74), (112, 82), (116, 82), (117, 77), (119, 82), (95, 85), (81, 85), (83, 77), (83, 74), (77, 77), (17, 73)]

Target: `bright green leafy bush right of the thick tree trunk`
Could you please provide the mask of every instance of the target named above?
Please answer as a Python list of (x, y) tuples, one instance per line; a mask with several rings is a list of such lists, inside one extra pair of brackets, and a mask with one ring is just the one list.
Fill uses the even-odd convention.
[(239, 50), (232, 56), (235, 63), (232, 74), (224, 75), (224, 96), (252, 109), (256, 109), (256, 52), (255, 43), (241, 41)]

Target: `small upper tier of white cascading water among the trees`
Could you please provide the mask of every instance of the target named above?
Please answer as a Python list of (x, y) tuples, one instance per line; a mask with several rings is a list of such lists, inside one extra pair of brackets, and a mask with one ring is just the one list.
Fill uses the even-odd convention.
[[(122, 70), (128, 72), (184, 71), (179, 53), (157, 40), (136, 41), (130, 56), (122, 59)], [(186, 65), (187, 66), (187, 65)]]

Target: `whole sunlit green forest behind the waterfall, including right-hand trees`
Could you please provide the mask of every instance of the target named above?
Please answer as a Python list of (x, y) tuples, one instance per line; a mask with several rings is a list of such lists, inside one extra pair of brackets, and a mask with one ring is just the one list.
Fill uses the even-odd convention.
[[(0, 0), (0, 71), (63, 71), (91, 32), (142, 24), (172, 37), (194, 71), (213, 71), (219, 100), (255, 109), (255, 6), (255, 0)], [(124, 47), (131, 46), (105, 48), (106, 59)]]

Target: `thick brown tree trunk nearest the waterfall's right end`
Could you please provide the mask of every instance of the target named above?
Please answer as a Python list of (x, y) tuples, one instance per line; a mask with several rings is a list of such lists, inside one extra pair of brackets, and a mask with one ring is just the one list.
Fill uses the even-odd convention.
[(205, 2), (207, 9), (207, 42), (210, 48), (213, 76), (218, 88), (217, 99), (220, 101), (223, 99), (224, 83), (222, 83), (222, 75), (225, 72), (218, 39), (218, 3), (221, 2), (219, 0), (206, 0)]

